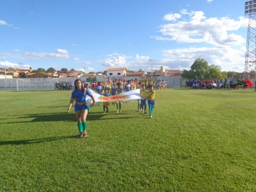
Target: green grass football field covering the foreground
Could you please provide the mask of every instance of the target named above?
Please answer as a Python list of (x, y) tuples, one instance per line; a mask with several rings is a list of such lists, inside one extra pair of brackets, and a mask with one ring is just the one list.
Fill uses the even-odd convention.
[(102, 105), (88, 136), (71, 91), (0, 91), (0, 191), (256, 191), (256, 93), (156, 90), (153, 119)]

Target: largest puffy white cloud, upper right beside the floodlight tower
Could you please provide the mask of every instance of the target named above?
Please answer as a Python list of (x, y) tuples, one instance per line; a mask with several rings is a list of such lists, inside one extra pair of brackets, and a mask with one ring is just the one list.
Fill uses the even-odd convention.
[[(238, 20), (228, 17), (207, 19), (204, 12), (188, 12), (186, 9), (181, 10), (180, 13), (184, 16), (183, 20), (160, 26), (160, 32), (167, 37), (153, 35), (151, 38), (182, 43), (206, 42), (216, 46), (241, 45), (245, 42), (241, 35), (228, 34), (230, 31), (247, 27), (247, 19), (244, 17), (239, 17)], [(189, 20), (186, 20), (186, 15)], [(165, 16), (168, 17), (168, 15)]]

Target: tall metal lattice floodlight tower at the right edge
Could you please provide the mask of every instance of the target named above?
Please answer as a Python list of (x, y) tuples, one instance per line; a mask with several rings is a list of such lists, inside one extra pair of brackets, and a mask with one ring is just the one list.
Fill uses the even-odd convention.
[(244, 64), (244, 77), (254, 72), (256, 78), (256, 0), (245, 2), (245, 15), (249, 15), (247, 44)]

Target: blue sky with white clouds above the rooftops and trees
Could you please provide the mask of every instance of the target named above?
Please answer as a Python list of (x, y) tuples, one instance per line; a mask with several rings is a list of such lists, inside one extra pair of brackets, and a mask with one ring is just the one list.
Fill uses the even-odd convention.
[(244, 1), (208, 1), (2, 1), (0, 67), (183, 70), (204, 58), (243, 71)]

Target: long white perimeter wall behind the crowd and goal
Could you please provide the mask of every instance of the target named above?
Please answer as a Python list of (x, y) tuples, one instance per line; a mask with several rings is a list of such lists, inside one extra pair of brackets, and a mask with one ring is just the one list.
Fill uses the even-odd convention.
[[(124, 77), (122, 79), (131, 80), (131, 79), (145, 80), (137, 77)], [(0, 79), (0, 90), (53, 90), (55, 88), (55, 82), (72, 82), (77, 78), (14, 78), (14, 79)], [(90, 78), (86, 79), (85, 77), (79, 78), (82, 81), (90, 81)], [(95, 79), (91, 79), (95, 81)], [(96, 77), (96, 81), (106, 81), (105, 77)], [(167, 87), (179, 88), (185, 86), (183, 78), (180, 77), (154, 77), (156, 80), (166, 80)]]

